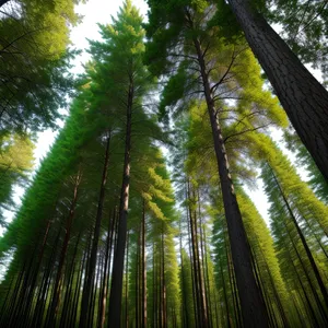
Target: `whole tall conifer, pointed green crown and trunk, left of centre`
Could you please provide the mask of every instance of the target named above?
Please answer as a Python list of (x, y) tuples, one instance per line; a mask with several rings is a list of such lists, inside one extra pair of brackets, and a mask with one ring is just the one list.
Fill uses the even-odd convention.
[[(102, 26), (102, 36), (106, 43), (92, 43), (92, 50), (98, 60), (104, 75), (110, 77), (104, 85), (112, 104), (121, 110), (125, 121), (125, 160), (120, 190), (118, 238), (113, 263), (113, 280), (109, 297), (110, 325), (120, 326), (124, 259), (127, 239), (127, 219), (129, 208), (132, 125), (138, 114), (142, 114), (142, 97), (145, 95), (151, 75), (142, 63), (144, 51), (144, 32), (142, 17), (138, 10), (126, 1), (112, 25)], [(99, 81), (99, 80), (98, 80)], [(103, 90), (104, 90), (103, 87)], [(145, 118), (145, 117), (143, 117)], [(140, 119), (140, 116), (138, 117)], [(108, 323), (109, 324), (109, 323)]]

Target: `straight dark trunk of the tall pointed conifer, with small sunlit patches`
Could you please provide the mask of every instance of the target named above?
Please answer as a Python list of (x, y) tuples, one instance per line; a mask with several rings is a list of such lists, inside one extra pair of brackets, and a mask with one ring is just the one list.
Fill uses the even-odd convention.
[[(128, 230), (128, 208), (130, 188), (130, 152), (131, 152), (131, 119), (133, 105), (133, 81), (130, 78), (129, 94), (127, 102), (127, 126), (126, 126), (126, 148), (124, 175), (119, 204), (119, 223), (117, 247), (114, 256), (112, 288), (109, 296), (108, 325), (120, 328), (121, 297), (122, 297), (122, 276), (125, 265), (125, 247), (127, 244)], [(109, 327), (109, 326), (108, 326)]]

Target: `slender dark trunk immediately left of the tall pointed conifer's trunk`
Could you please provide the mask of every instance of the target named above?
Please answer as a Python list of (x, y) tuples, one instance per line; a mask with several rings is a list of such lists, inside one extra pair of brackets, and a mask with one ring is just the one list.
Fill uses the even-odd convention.
[(101, 224), (103, 219), (103, 208), (104, 208), (104, 201), (105, 201), (105, 190), (106, 190), (106, 183), (107, 183), (107, 172), (108, 172), (108, 164), (109, 164), (109, 144), (110, 144), (110, 132), (107, 137), (106, 142), (106, 150), (105, 150), (105, 162), (103, 167), (103, 176), (102, 176), (102, 183), (101, 183), (101, 191), (99, 191), (99, 198), (98, 198), (98, 207), (97, 207), (97, 214), (95, 219), (95, 226), (94, 226), (94, 234), (93, 234), (93, 242), (92, 242), (92, 248), (91, 248), (91, 255), (89, 260), (89, 267), (86, 270), (86, 283), (83, 289), (83, 295), (82, 295), (82, 304), (81, 304), (81, 317), (80, 317), (80, 328), (86, 327), (86, 318), (87, 313), (90, 308), (90, 302), (91, 302), (91, 290), (94, 282), (94, 276), (95, 276), (95, 267), (96, 267), (96, 260), (97, 260), (97, 249), (98, 249), (98, 241), (101, 235)]

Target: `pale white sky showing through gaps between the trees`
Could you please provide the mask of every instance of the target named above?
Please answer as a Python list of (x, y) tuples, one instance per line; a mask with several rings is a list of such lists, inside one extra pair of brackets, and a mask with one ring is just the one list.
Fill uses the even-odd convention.
[[(82, 23), (79, 24), (77, 27), (74, 27), (71, 32), (71, 40), (74, 47), (79, 49), (85, 49), (89, 46), (87, 38), (99, 39), (97, 23), (101, 24), (110, 23), (112, 15), (116, 16), (116, 13), (121, 4), (122, 4), (122, 0), (89, 0), (87, 3), (78, 5), (75, 11), (79, 14), (83, 15), (84, 19)], [(143, 14), (143, 16), (147, 15), (148, 7), (143, 0), (133, 0), (133, 4), (140, 9), (140, 12)], [(75, 60), (75, 68), (73, 72), (82, 72), (83, 71), (82, 63), (86, 62), (89, 58), (90, 55), (86, 51), (83, 51), (83, 54)], [(61, 126), (62, 125), (63, 122), (61, 122)], [(50, 130), (44, 131), (38, 134), (39, 138), (34, 152), (35, 168), (38, 167), (40, 160), (46, 156), (56, 136), (57, 133)], [(273, 138), (276, 141), (279, 141), (279, 139), (281, 139), (281, 134), (274, 133)], [(291, 155), (291, 157), (293, 159), (293, 155)], [(305, 172), (302, 172), (302, 169), (300, 172), (302, 177), (305, 178), (306, 177)], [(17, 208), (20, 206), (23, 194), (24, 194), (24, 189), (22, 188), (15, 189), (14, 198)], [(268, 202), (262, 191), (261, 181), (259, 181), (258, 184), (258, 189), (250, 191), (249, 196), (253, 199), (253, 201), (256, 203), (259, 212), (261, 213), (266, 222), (268, 223), (269, 222), (269, 216), (267, 213)], [(8, 221), (10, 221), (12, 216), (13, 213), (8, 213)]]

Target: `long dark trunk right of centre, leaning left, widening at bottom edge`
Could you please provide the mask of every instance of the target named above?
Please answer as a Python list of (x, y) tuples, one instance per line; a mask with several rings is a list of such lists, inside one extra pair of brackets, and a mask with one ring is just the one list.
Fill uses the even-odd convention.
[(197, 38), (194, 39), (194, 45), (197, 51), (206, 102), (211, 121), (224, 212), (227, 222), (233, 265), (242, 306), (243, 323), (245, 328), (267, 328), (269, 325), (268, 313), (262, 294), (254, 277), (250, 248), (247, 242), (241, 210), (230, 174), (227, 154), (221, 127), (219, 125), (218, 110), (214, 107), (203, 51)]

